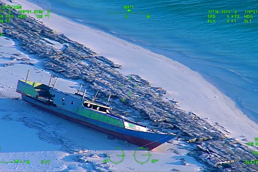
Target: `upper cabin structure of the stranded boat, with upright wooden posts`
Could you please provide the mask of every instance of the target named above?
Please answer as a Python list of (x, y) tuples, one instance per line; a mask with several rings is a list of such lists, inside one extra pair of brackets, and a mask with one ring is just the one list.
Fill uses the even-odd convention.
[[(29, 74), (29, 71), (28, 71), (28, 74)], [(43, 102), (48, 106), (58, 107), (74, 113), (76, 113), (77, 109), (81, 109), (83, 106), (83, 108), (94, 110), (99, 113), (107, 114), (107, 116), (110, 116), (110, 117), (112, 116), (113, 118), (123, 121), (124, 127), (129, 130), (136, 130), (136, 131), (143, 131), (143, 132), (147, 132), (148, 130), (147, 127), (144, 125), (135, 123), (133, 121), (128, 121), (114, 114), (110, 114), (109, 110), (111, 108), (108, 106), (108, 102), (110, 100), (111, 95), (109, 95), (107, 103), (102, 103), (99, 101), (95, 101), (95, 98), (98, 92), (96, 93), (93, 99), (90, 99), (85, 96), (86, 89), (83, 92), (84, 94), (80, 95), (79, 92), (81, 92), (80, 89), (82, 85), (75, 94), (62, 92), (54, 88), (57, 80), (55, 81), (53, 87), (50, 87), (52, 75), (51, 75), (49, 84), (47, 86), (42, 83), (28, 81), (27, 80), (28, 74), (25, 81), (23, 80), (18, 81), (16, 92), (26, 95), (27, 97), (32, 98), (35, 101)]]

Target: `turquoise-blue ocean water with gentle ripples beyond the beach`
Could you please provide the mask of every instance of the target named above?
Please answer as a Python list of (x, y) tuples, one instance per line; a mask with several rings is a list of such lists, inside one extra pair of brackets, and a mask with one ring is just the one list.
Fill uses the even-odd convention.
[[(258, 10), (257, 0), (32, 2), (200, 72), (258, 123), (258, 13), (245, 13), (245, 10)], [(134, 6), (130, 12), (151, 12), (151, 16), (147, 19), (146, 14), (128, 14), (126, 19), (125, 14), (109, 14), (126, 12), (125, 5)], [(208, 23), (209, 10), (220, 12), (212, 13), (216, 15), (215, 23)], [(246, 18), (249, 23), (245, 23), (244, 15), (253, 18)]]

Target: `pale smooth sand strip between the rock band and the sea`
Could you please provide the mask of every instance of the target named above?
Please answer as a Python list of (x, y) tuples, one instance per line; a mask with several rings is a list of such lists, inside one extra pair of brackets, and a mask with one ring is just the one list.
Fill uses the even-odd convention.
[[(18, 4), (22, 4), (26, 9), (42, 9), (36, 4), (25, 0), (22, 0), (22, 2)], [(192, 111), (202, 118), (208, 118), (210, 123), (218, 122), (230, 132), (230, 137), (235, 137), (239, 140), (242, 139), (240, 136), (245, 136), (248, 140), (254, 139), (254, 136), (249, 133), (251, 131), (257, 131), (258, 125), (244, 115), (243, 112), (236, 107), (236, 103), (233, 100), (222, 94), (215, 86), (208, 83), (198, 72), (192, 71), (188, 67), (163, 55), (152, 53), (138, 45), (133, 45), (102, 31), (72, 22), (54, 13), (51, 13), (49, 19), (45, 18), (40, 21), (57, 31), (57, 34), (65, 34), (70, 39), (91, 48), (97, 52), (99, 56), (104, 56), (114, 63), (124, 66), (119, 70), (122, 74), (138, 74), (143, 79), (148, 80), (153, 86), (162, 87), (167, 90), (168, 94), (165, 95), (164, 98), (176, 99), (180, 102), (179, 106), (181, 109)], [(108, 49), (110, 50), (109, 52), (106, 51)], [(126, 52), (133, 50), (131, 51), (133, 54), (128, 57), (128, 55), (123, 53), (123, 49), (125, 49)], [(136, 58), (137, 54), (139, 54), (139, 57), (148, 57), (138, 59)], [(135, 60), (134, 63), (131, 62), (132, 60)], [(160, 69), (163, 69), (163, 71), (160, 71)], [(164, 73), (177, 73), (177, 76), (173, 77), (168, 74), (165, 75)], [(170, 81), (164, 83), (164, 80), (174, 80), (174, 82)], [(182, 85), (185, 86), (185, 88), (182, 88)], [(206, 95), (213, 96), (209, 97)], [(205, 101), (205, 103), (203, 103), (203, 101)], [(221, 109), (209, 109), (207, 107), (215, 104)], [(217, 116), (217, 114), (224, 115)], [(227, 126), (227, 124), (229, 125)], [(235, 126), (238, 127), (235, 128)], [(246, 131), (246, 128), (249, 126), (251, 126), (249, 128), (250, 132), (243, 132)]]

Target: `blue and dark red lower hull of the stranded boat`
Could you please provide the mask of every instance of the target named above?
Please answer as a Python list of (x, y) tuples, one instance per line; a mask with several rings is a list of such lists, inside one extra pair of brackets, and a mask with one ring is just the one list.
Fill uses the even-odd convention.
[[(34, 106), (39, 107), (40, 109), (51, 112), (62, 118), (68, 119), (69, 121), (74, 121), (76, 123), (83, 124), (94, 130), (97, 130), (99, 132), (108, 134), (110, 136), (128, 141), (139, 147), (145, 147), (148, 150), (152, 150), (155, 147), (158, 147), (159, 145), (163, 144), (164, 142), (166, 142), (174, 137), (171, 135), (162, 135), (162, 137), (161, 137), (160, 136), (161, 134), (157, 134), (157, 133), (151, 133), (152, 135), (146, 136), (146, 134), (150, 134), (150, 133), (128, 130), (128, 129), (117, 127), (117, 126), (110, 126), (110, 125), (107, 125), (104, 123), (98, 124), (99, 121), (82, 118), (81, 115), (76, 115), (74, 113), (67, 112), (64, 109), (46, 105), (45, 103), (36, 101), (35, 99), (29, 98), (26, 95), (22, 95), (22, 99), (28, 103), (31, 103)], [(146, 137), (149, 137), (150, 139), (146, 139)]]

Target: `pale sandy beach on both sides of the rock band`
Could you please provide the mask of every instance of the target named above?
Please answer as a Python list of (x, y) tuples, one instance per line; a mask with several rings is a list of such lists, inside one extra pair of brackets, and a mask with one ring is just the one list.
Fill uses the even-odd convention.
[[(4, 1), (10, 4), (9, 1)], [(12, 4), (15, 4), (13, 2)], [(19, 3), (23, 9), (41, 9), (36, 4), (20, 0)], [(114, 36), (108, 35), (102, 31), (94, 30), (88, 26), (75, 23), (69, 19), (51, 13), (50, 18), (41, 20), (46, 26), (56, 30), (57, 34), (65, 34), (70, 39), (78, 41), (96, 51), (99, 55), (107, 57), (114, 63), (124, 66), (119, 69), (122, 74), (138, 74), (143, 79), (151, 82), (152, 86), (162, 87), (168, 91), (164, 98), (176, 99), (180, 102), (181, 109), (192, 111), (198, 116), (207, 119), (210, 123), (219, 123), (221, 131), (230, 137), (235, 137), (239, 141), (244, 136), (248, 141), (254, 141), (257, 135), (258, 125), (251, 121), (236, 107), (236, 104), (228, 97), (223, 95), (215, 86), (208, 83), (198, 72), (191, 71), (188, 67), (166, 58), (162, 55), (152, 53), (137, 45), (133, 45)], [(12, 40), (0, 37), (3, 45), (0, 47), (0, 99), (1, 104), (16, 101), (16, 106), (10, 110), (1, 108), (0, 126), (5, 130), (0, 132), (1, 139), (0, 157), (1, 161), (9, 159), (32, 159), (30, 165), (26, 164), (0, 164), (3, 171), (198, 171), (202, 164), (196, 162), (192, 157), (184, 155), (187, 150), (183, 142), (175, 141), (174, 145), (166, 143), (160, 146), (152, 156), (159, 159), (156, 164), (149, 163), (141, 165), (135, 162), (133, 149), (136, 146), (128, 144), (124, 147), (127, 151), (128, 159), (118, 165), (101, 164), (105, 159), (104, 154), (116, 154), (117, 141), (108, 139), (104, 134), (94, 130), (85, 129), (85, 127), (70, 123), (69, 121), (57, 118), (51, 114), (39, 111), (25, 102), (13, 100), (19, 94), (15, 92), (18, 79), (26, 77), (27, 70), (30, 69), (30, 80), (48, 83), (50, 71), (43, 70), (40, 61), (36, 57), (26, 55), (23, 52), (22, 57), (29, 58), (34, 66), (24, 64), (14, 64), (14, 66), (4, 67), (3, 64), (12, 62), (9, 58), (11, 54), (21, 53), (19, 46)], [(37, 73), (38, 72), (38, 73)], [(80, 81), (62, 80), (58, 82), (57, 88), (62, 91), (75, 91), (72, 86), (79, 86)], [(24, 108), (26, 107), (26, 108)], [(2, 115), (3, 114), (3, 115)], [(38, 115), (40, 114), (40, 115)], [(35, 130), (32, 125), (24, 126), (20, 124), (21, 117), (32, 118), (37, 121), (46, 121), (42, 127)], [(46, 120), (47, 119), (47, 120)], [(25, 119), (26, 121), (26, 119)], [(215, 124), (214, 124), (215, 125)], [(15, 127), (12, 127), (15, 126)], [(22, 131), (21, 133), (17, 131)], [(55, 131), (52, 133), (52, 131)], [(75, 140), (72, 131), (77, 131), (78, 139)], [(28, 134), (29, 133), (29, 134)], [(47, 134), (43, 134), (47, 133)], [(51, 134), (52, 133), (52, 134)], [(3, 137), (4, 136), (4, 137)], [(10, 137), (11, 136), (11, 137)], [(15, 136), (15, 137), (13, 137)], [(19, 136), (19, 137), (16, 137)], [(72, 137), (73, 136), (73, 137)], [(40, 138), (40, 139), (39, 139)], [(54, 144), (54, 140), (66, 142), (66, 147), (60, 147)], [(87, 144), (85, 138), (92, 143)], [(46, 141), (43, 141), (46, 140)], [(245, 141), (246, 142), (246, 141)], [(11, 144), (10, 144), (11, 143)], [(22, 144), (18, 144), (22, 143)], [(181, 144), (178, 146), (176, 144)], [(37, 145), (37, 146), (36, 146)], [(103, 149), (105, 147), (105, 149)], [(63, 151), (70, 151), (64, 153)], [(74, 150), (78, 150), (77, 153)], [(182, 153), (178, 155), (177, 150)], [(89, 152), (90, 162), (83, 162), (86, 157), (80, 157), (79, 153)], [(184, 158), (189, 165), (182, 165), (179, 159)], [(51, 160), (50, 165), (41, 164), (42, 160)], [(52, 163), (53, 162), (53, 163)]]

